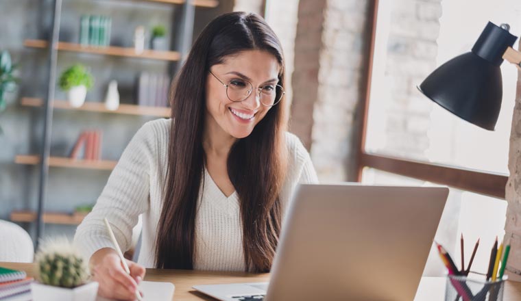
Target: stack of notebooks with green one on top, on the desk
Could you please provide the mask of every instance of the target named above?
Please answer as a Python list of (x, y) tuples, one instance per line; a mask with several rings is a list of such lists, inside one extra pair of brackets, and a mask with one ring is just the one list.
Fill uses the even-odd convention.
[(11, 300), (14, 296), (27, 293), (33, 280), (23, 271), (0, 267), (0, 300)]

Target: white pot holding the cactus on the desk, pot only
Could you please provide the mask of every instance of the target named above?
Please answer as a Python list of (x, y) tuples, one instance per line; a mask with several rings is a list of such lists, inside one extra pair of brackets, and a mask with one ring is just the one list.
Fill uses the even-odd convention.
[(53, 287), (41, 283), (31, 283), (33, 301), (95, 301), (98, 289), (97, 282), (90, 282), (73, 289)]

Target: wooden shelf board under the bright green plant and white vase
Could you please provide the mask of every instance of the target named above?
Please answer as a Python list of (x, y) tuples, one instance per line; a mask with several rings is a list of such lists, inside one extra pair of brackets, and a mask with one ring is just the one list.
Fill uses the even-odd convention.
[[(23, 97), (21, 99), (21, 105), (25, 107), (41, 107), (43, 105), (43, 99)], [(81, 107), (72, 107), (71, 105), (69, 105), (68, 101), (54, 100), (53, 108), (71, 109), (86, 112), (170, 117), (170, 108), (168, 107), (145, 107), (143, 105), (120, 104), (117, 110), (110, 111), (106, 109), (104, 103), (93, 103), (86, 101)]]

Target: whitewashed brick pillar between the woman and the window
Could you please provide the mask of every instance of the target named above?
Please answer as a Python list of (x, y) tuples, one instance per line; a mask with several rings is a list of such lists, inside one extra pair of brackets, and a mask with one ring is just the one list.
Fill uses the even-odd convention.
[(291, 131), (321, 181), (354, 180), (371, 1), (300, 0)]

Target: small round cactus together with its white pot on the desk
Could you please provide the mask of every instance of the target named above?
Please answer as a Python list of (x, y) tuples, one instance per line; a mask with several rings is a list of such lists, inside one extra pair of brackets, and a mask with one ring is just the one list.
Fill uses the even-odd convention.
[(68, 239), (43, 242), (35, 261), (38, 282), (31, 284), (32, 300), (96, 300), (98, 283), (89, 282), (86, 260)]

